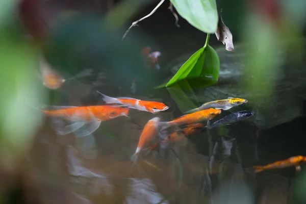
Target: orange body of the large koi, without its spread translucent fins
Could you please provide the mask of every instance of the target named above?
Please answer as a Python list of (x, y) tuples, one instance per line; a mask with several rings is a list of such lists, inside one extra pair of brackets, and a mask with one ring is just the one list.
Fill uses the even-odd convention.
[(111, 120), (119, 116), (127, 116), (129, 109), (113, 106), (83, 106), (69, 107), (59, 110), (45, 111), (47, 115), (62, 117), (70, 121)]

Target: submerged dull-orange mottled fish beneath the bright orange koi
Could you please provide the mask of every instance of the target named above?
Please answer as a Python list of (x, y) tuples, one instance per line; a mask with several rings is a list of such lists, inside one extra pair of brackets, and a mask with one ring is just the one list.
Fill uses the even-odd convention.
[(183, 130), (175, 131), (174, 133), (171, 133), (170, 135), (168, 135), (164, 139), (161, 139), (160, 141), (150, 145), (148, 148), (149, 149), (155, 149), (159, 145), (164, 147), (168, 143), (179, 141), (179, 140), (183, 139), (184, 137), (188, 137), (192, 134), (195, 134), (195, 133), (199, 132), (200, 129), (195, 129), (195, 127), (203, 127), (203, 126), (204, 126), (204, 124), (202, 124), (202, 123), (188, 124)]

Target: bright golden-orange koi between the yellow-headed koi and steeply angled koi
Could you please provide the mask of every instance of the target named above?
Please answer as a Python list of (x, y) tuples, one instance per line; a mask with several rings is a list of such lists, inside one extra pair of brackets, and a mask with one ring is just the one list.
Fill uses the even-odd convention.
[(162, 130), (168, 128), (173, 125), (182, 125), (182, 124), (191, 124), (191, 123), (199, 123), (203, 120), (210, 120), (216, 117), (221, 113), (221, 110), (218, 109), (206, 109), (202, 111), (197, 111), (195, 113), (183, 115), (179, 118), (176, 118), (169, 122), (159, 122), (159, 125), (164, 126)]

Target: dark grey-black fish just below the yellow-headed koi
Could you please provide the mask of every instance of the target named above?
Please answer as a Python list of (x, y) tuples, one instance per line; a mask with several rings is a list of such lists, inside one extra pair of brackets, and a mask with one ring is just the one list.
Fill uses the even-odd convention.
[(239, 111), (239, 112), (227, 115), (227, 116), (221, 118), (220, 120), (217, 120), (216, 122), (207, 125), (206, 127), (208, 129), (212, 129), (213, 127), (233, 124), (233, 123), (239, 122), (241, 120), (244, 120), (246, 118), (249, 118), (252, 115), (254, 115), (253, 111)]

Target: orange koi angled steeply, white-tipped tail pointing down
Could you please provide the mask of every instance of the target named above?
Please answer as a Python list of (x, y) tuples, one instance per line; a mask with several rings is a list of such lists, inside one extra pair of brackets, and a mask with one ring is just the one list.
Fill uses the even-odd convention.
[(140, 135), (139, 142), (136, 148), (134, 155), (131, 157), (132, 162), (136, 162), (139, 151), (144, 147), (147, 142), (149, 142), (155, 134), (158, 132), (158, 122), (160, 121), (159, 117), (150, 119), (144, 126), (143, 131)]

